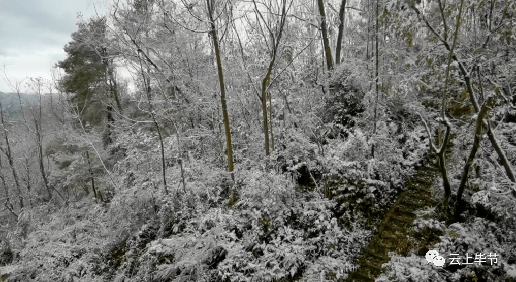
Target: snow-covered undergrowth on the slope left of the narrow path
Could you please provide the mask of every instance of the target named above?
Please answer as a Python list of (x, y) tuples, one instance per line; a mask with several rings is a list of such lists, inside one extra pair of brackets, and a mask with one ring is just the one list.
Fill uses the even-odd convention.
[[(341, 93), (349, 93), (349, 77)], [(182, 156), (170, 135), (165, 155), (176, 159), (166, 160), (167, 191), (155, 132), (121, 131), (106, 149), (123, 148), (106, 157), (116, 186), (107, 188), (106, 175), (96, 181), (103, 202), (76, 195), (67, 206), (21, 213), (2, 240), (16, 266), (9, 281), (342, 281), (428, 151), (421, 126), (409, 131), (386, 116), (368, 136), (365, 115), (372, 112), (329, 117), (320, 128), (346, 137), (325, 137), (324, 145), (300, 128), (279, 128), (266, 159), (253, 147), (257, 135), (237, 134), (234, 143), (245, 146), (235, 146), (234, 182), (209, 149), (215, 139), (186, 136)], [(56, 139), (48, 150), (70, 158), (69, 143)], [(85, 165), (72, 160), (51, 181), (84, 185)]]

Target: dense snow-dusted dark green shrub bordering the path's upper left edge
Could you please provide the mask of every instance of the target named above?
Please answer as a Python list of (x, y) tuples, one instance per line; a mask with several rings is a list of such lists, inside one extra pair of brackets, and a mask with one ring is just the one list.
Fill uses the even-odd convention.
[[(387, 145), (394, 147), (396, 143), (382, 144)], [(388, 154), (388, 149), (382, 148), (378, 158), (368, 159), (370, 146), (359, 129), (345, 141), (332, 140), (327, 147), (322, 159), (325, 194), (338, 201), (346, 221), (363, 212), (376, 213), (385, 208), (392, 202), (399, 184), (413, 171), (397, 162), (402, 159), (397, 150), (391, 149)]]

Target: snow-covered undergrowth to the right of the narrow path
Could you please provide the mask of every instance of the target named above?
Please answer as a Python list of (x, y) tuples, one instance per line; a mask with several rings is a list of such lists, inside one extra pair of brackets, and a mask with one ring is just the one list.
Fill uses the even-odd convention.
[[(510, 123), (501, 124), (500, 132), (511, 132), (510, 128)], [(510, 138), (508, 134), (501, 136)], [(459, 185), (463, 160), (467, 158), (464, 148), (471, 147), (472, 137), (471, 127), (459, 127), (451, 139), (447, 168), (453, 187)], [(482, 146), (489, 147), (488, 140)], [(510, 142), (505, 146), (508, 152), (514, 149)], [(506, 179), (492, 151), (484, 149), (475, 163), (478, 166), (470, 169), (464, 211), (459, 216), (443, 211), (442, 179), (436, 179), (431, 186), (435, 204), (418, 210), (417, 219), (407, 230), (409, 251), (390, 252), (390, 262), (383, 264), (384, 274), (377, 281), (516, 280), (516, 209), (509, 196), (513, 184)], [(452, 206), (456, 200), (453, 194)], [(436, 250), (446, 259), (444, 267), (427, 262), (425, 254), (429, 250)], [(466, 256), (469, 264), (465, 264)], [(451, 264), (451, 257), (460, 257), (454, 261), (461, 264)]]

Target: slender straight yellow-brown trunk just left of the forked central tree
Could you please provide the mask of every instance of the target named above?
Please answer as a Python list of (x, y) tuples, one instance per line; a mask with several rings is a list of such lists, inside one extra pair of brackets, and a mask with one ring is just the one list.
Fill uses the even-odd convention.
[[(219, 41), (217, 39), (217, 29), (215, 27), (215, 20), (213, 18), (213, 9), (215, 8), (214, 1), (215, 0), (206, 0), (206, 6), (208, 8), (209, 22), (212, 27), (212, 39), (215, 49), (215, 57), (217, 59), (217, 70), (219, 73), (220, 102), (222, 104), (222, 116), (224, 118), (226, 146), (228, 151), (228, 171), (233, 172), (233, 150), (231, 148), (231, 130), (229, 127), (228, 108), (225, 100), (224, 73), (222, 71), (222, 59), (220, 58)], [(267, 115), (266, 112), (265, 115)]]

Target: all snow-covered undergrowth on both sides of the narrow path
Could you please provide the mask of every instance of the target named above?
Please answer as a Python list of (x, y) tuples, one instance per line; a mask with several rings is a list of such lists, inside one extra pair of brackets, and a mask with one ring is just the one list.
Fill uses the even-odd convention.
[[(414, 107), (407, 96), (393, 96), (379, 105), (384, 114), (377, 133), (368, 134), (374, 92), (362, 90), (352, 69), (343, 65), (334, 73), (334, 96), (314, 109), (320, 119), (275, 130), (276, 149), (267, 158), (256, 142), (260, 135), (239, 127), (233, 176), (213, 149), (217, 139), (201, 128), (179, 139), (181, 147), (177, 135), (163, 138), (167, 189), (152, 127), (118, 130), (116, 141), (99, 153), (102, 163), (85, 159), (79, 137), (62, 132), (45, 154), (58, 164), (49, 181), (66, 191), (69, 202), (23, 209), (18, 222), (8, 223), (0, 245), (7, 266), (0, 271), (10, 282), (345, 280), (404, 182), (416, 167), (430, 165), (428, 132), (414, 112), (438, 115), (432, 107)], [(102, 140), (90, 136), (93, 143)], [(459, 127), (451, 140), (448, 168), (456, 186), (471, 130)], [(392, 253), (380, 281), (514, 278), (514, 210), (500, 194), (506, 189), (503, 171), (496, 162), (479, 161), (479, 167), (482, 176), (471, 180), (470, 205), (458, 222), (435, 207), (421, 211), (407, 230), (411, 250)], [(101, 198), (85, 188), (91, 175)], [(501, 257), (493, 267), (436, 270), (424, 263), (426, 248)]]

